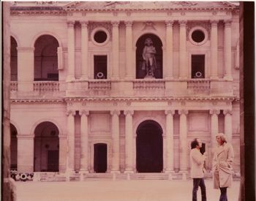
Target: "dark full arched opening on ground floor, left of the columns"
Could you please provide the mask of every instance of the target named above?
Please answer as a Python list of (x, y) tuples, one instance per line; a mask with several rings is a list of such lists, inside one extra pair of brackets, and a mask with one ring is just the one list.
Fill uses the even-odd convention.
[(45, 121), (34, 134), (34, 172), (59, 172), (59, 129)]

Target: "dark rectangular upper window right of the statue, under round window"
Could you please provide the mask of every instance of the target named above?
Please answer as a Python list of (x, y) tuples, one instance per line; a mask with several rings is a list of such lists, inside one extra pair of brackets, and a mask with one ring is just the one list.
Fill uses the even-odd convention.
[(192, 55), (191, 77), (205, 78), (205, 55)]

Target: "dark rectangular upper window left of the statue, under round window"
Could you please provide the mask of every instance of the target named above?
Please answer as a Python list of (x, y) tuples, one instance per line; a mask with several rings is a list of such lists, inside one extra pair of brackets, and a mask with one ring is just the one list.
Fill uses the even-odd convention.
[(94, 79), (107, 79), (108, 58), (106, 55), (94, 55)]

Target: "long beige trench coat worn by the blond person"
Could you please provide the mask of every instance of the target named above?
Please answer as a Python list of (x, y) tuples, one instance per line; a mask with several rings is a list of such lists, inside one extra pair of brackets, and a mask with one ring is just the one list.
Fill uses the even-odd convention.
[(224, 143), (223, 145), (219, 145), (214, 153), (213, 161), (214, 189), (219, 189), (219, 187), (231, 186), (233, 160), (233, 146), (230, 143)]

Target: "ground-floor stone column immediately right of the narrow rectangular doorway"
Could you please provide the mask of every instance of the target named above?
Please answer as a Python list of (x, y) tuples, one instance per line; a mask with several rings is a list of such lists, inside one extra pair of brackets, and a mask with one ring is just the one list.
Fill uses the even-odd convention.
[(112, 115), (112, 167), (111, 172), (120, 172), (119, 167), (119, 117), (120, 111), (110, 111)]

